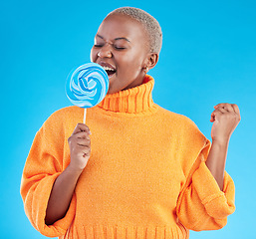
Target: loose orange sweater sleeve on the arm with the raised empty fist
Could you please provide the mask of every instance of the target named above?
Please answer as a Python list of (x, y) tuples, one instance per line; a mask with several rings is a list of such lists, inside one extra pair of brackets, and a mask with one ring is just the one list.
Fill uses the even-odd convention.
[(210, 141), (205, 143), (186, 175), (177, 200), (176, 213), (179, 221), (194, 231), (217, 230), (227, 223), (227, 216), (235, 210), (234, 182), (224, 173), (224, 187), (220, 190), (215, 178), (205, 164)]

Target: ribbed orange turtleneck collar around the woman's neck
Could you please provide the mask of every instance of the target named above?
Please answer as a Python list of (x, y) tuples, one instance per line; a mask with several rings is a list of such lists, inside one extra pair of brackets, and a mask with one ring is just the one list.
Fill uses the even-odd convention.
[(155, 110), (152, 101), (153, 85), (153, 78), (146, 75), (142, 85), (107, 95), (98, 107), (115, 113), (139, 114), (152, 112)]

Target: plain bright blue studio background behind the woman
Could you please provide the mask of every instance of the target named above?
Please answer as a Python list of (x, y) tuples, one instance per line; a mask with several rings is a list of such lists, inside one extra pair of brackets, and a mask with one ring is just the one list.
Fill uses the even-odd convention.
[(69, 72), (90, 61), (94, 36), (115, 8), (134, 6), (163, 31), (153, 100), (194, 120), (210, 138), (210, 114), (235, 103), (242, 120), (230, 140), (226, 169), (236, 184), (236, 211), (219, 231), (190, 238), (251, 238), (256, 214), (256, 1), (18, 1), (0, 7), (0, 238), (45, 238), (28, 221), (20, 178), (34, 135), (55, 111), (70, 106)]

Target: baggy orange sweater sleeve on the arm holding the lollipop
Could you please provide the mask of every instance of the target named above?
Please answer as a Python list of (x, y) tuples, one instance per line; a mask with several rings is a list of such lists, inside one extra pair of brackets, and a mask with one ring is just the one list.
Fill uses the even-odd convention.
[(49, 237), (64, 235), (76, 211), (74, 194), (65, 217), (53, 225), (45, 223), (46, 209), (53, 184), (65, 169), (63, 131), (54, 117), (45, 121), (34, 138), (21, 181), (21, 196), (26, 215), (39, 232)]

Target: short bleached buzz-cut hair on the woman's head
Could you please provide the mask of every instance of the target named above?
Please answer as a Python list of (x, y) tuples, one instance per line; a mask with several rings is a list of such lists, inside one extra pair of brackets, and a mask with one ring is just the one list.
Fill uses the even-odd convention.
[(162, 32), (157, 20), (147, 12), (134, 7), (122, 7), (115, 9), (107, 17), (115, 14), (126, 15), (142, 24), (148, 35), (149, 51), (151, 53), (160, 53), (162, 45)]

